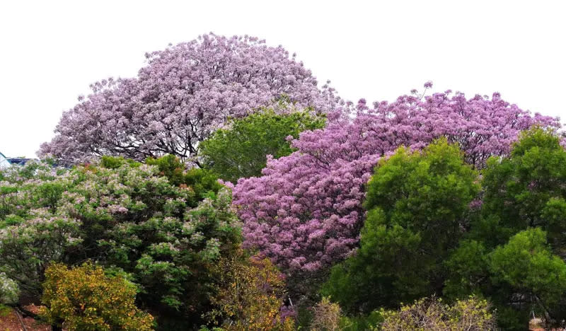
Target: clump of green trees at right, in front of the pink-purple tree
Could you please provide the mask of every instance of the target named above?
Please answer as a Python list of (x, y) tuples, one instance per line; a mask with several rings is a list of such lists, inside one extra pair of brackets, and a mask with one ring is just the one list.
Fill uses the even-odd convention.
[(369, 181), (360, 247), (333, 267), (323, 294), (352, 314), (479, 295), (505, 330), (524, 330), (533, 313), (563, 325), (565, 164), (543, 129), (490, 158), (481, 180), (446, 140), (399, 149)]

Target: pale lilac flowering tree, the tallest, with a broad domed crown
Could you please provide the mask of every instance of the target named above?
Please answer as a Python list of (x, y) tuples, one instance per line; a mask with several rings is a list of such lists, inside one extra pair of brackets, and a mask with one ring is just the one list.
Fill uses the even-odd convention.
[(228, 117), (282, 97), (317, 112), (337, 100), (333, 88), (317, 87), (295, 54), (255, 37), (211, 33), (146, 58), (137, 78), (94, 83), (91, 95), (64, 113), (40, 156), (76, 163), (101, 155), (141, 160), (170, 153), (185, 160)]

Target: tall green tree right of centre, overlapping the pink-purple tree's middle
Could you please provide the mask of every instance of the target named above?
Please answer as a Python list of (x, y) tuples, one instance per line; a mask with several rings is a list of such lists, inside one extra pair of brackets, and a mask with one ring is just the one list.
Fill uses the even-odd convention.
[(446, 139), (381, 161), (367, 185), (360, 248), (333, 268), (323, 294), (350, 313), (441, 294), (442, 262), (462, 236), (477, 177)]

